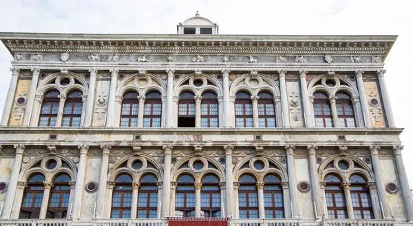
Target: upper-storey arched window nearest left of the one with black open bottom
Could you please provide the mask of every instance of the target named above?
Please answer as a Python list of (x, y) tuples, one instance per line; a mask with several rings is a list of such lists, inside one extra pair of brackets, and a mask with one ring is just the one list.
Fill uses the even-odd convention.
[(158, 91), (150, 91), (146, 95), (143, 110), (143, 127), (160, 127), (162, 115), (162, 99)]

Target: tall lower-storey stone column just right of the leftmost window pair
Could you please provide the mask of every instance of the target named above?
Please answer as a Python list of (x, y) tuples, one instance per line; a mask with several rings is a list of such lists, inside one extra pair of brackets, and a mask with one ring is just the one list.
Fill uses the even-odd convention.
[(81, 149), (81, 154), (78, 163), (78, 172), (76, 175), (76, 185), (74, 187), (72, 210), (72, 218), (74, 219), (78, 219), (81, 216), (83, 183), (85, 182), (87, 150), (89, 150), (89, 146), (81, 144), (78, 146), (78, 148)]

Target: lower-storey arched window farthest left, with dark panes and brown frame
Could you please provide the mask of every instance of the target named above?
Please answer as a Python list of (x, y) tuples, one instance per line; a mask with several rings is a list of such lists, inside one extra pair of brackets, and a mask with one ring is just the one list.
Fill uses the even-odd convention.
[(20, 208), (20, 219), (34, 219), (39, 218), (41, 201), (43, 199), (43, 192), (45, 186), (43, 182), (46, 181), (43, 174), (33, 174), (28, 179), (28, 185), (23, 192), (23, 201)]

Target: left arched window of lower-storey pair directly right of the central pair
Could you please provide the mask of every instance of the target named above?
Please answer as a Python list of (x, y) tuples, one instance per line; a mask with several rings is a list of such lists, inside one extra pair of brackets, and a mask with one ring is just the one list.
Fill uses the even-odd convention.
[(239, 182), (240, 218), (258, 218), (257, 180), (249, 174), (244, 174), (240, 177)]

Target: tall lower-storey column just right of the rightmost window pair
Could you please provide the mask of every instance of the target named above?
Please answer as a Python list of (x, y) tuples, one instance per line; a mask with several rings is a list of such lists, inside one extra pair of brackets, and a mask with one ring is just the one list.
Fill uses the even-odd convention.
[(374, 146), (374, 145), (370, 146), (374, 177), (376, 179), (376, 185), (377, 185), (377, 194), (379, 196), (379, 205), (383, 206), (384, 218), (390, 218), (388, 201), (385, 195), (383, 174), (380, 168), (379, 149), (380, 149), (380, 146)]

